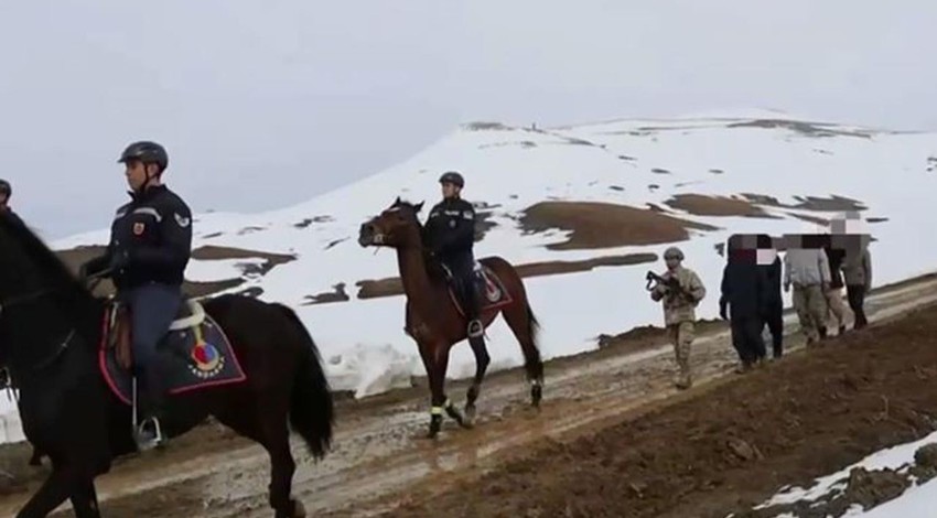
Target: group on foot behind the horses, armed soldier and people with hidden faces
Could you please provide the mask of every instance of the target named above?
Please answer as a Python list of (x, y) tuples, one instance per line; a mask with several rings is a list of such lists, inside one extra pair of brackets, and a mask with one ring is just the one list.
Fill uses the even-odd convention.
[[(853, 330), (869, 324), (864, 303), (872, 285), (870, 237), (839, 233), (837, 228), (833, 231), (783, 238), (740, 234), (729, 238), (719, 307), (720, 316), (730, 322), (732, 345), (739, 354), (737, 373), (767, 360), (765, 328), (771, 334), (773, 359), (784, 354), (782, 290), (793, 289), (794, 310), (808, 347), (847, 332), (843, 288), (853, 313)], [(667, 272), (651, 289), (650, 298), (663, 302), (679, 368), (675, 385), (686, 389), (692, 385), (689, 352), (694, 309), (706, 296), (706, 288), (696, 272), (682, 266), (683, 253), (678, 248), (668, 248), (664, 259)], [(836, 327), (836, 335), (830, 327)]]

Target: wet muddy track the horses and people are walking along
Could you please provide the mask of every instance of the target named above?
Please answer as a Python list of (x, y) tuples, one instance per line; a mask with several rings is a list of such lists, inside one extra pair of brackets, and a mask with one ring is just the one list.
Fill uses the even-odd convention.
[[(893, 320), (935, 302), (935, 288), (937, 279), (927, 277), (873, 293), (866, 303), (870, 320)], [(786, 316), (785, 325), (788, 333), (794, 332), (793, 315)], [(523, 455), (525, 446), (543, 440), (569, 441), (696, 398), (737, 379), (731, 375), (735, 357), (728, 332), (724, 326), (708, 327), (712, 331), (693, 345), (691, 361), (698, 381), (687, 392), (672, 388), (670, 347), (655, 345), (660, 337), (648, 336), (549, 363), (540, 412), (529, 408), (519, 370), (494, 375), (478, 401), (476, 428), (460, 430), (446, 421), (434, 442), (422, 439), (428, 421), (424, 387), (342, 402), (335, 447), (323, 462), (313, 463), (294, 442), (294, 495), (313, 516), (379, 515), (462, 487)], [(786, 346), (795, 352), (803, 347), (797, 335), (789, 336)], [(465, 384), (449, 385), (456, 402), (464, 400), (464, 390)], [(20, 449), (19, 454), (25, 464), (28, 451)], [(272, 515), (267, 507), (268, 473), (262, 449), (204, 427), (164, 452), (119, 463), (98, 479), (98, 488), (105, 516), (267, 517)], [(12, 516), (34, 486), (29, 481), (0, 497), (0, 516)], [(72, 516), (71, 507), (64, 505), (57, 516)]]

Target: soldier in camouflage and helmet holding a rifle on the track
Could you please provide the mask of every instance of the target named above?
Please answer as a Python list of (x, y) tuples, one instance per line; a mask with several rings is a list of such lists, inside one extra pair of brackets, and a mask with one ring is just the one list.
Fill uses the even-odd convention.
[(682, 266), (683, 252), (679, 248), (670, 247), (665, 250), (664, 260), (667, 262), (667, 272), (661, 277), (667, 281), (676, 279), (677, 282), (658, 283), (651, 290), (650, 299), (655, 302), (663, 301), (664, 322), (680, 369), (675, 385), (685, 390), (693, 384), (690, 373), (690, 345), (696, 332), (696, 307), (706, 296), (706, 288), (694, 271)]

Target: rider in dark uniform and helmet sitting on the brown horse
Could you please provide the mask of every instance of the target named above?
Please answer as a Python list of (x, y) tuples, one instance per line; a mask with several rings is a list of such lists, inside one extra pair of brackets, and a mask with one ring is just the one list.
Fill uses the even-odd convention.
[(430, 211), (427, 218), (428, 245), (460, 285), (468, 317), (468, 337), (478, 338), (485, 330), (480, 320), (481, 301), (474, 279), (475, 207), (460, 196), (465, 186), (461, 174), (450, 171), (439, 179), (439, 183), (442, 184), (443, 201)]

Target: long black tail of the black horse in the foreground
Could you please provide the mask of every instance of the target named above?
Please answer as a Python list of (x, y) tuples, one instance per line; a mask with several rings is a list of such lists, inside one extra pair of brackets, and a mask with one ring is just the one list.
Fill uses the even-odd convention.
[(295, 324), (303, 342), (304, 358), (290, 397), (290, 423), (305, 440), (313, 456), (322, 458), (332, 446), (332, 427), (335, 421), (335, 406), (329, 379), (322, 369), (319, 348), (309, 330), (292, 309), (279, 303), (274, 305)]

